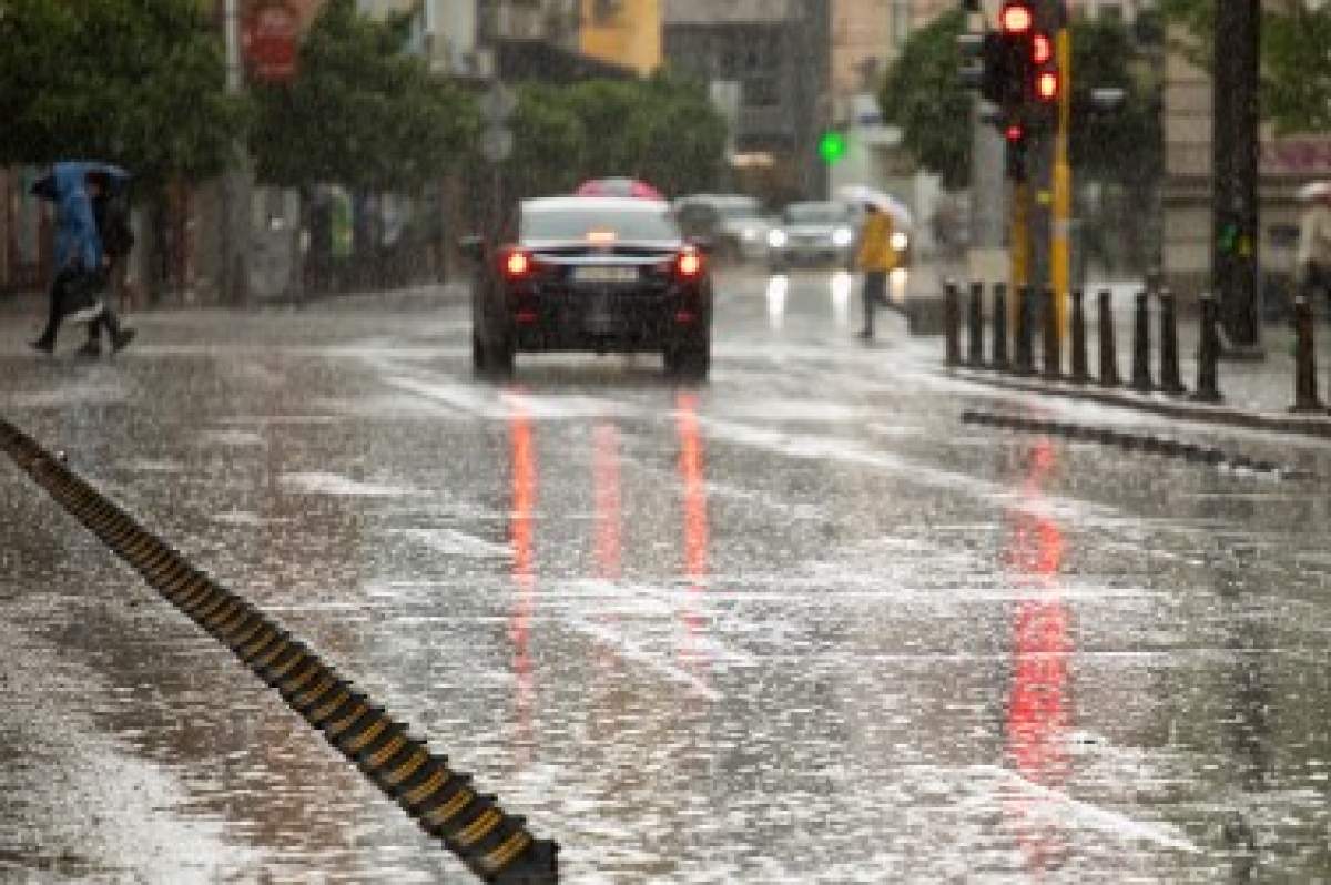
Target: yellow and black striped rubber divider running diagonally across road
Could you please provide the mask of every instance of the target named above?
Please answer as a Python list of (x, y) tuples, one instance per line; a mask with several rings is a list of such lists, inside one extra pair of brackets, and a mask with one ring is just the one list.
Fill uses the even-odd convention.
[(256, 676), (276, 688), (310, 727), (323, 733), (425, 832), (487, 882), (547, 885), (559, 881), (559, 846), (536, 840), (522, 817), (499, 808), (407, 735), (318, 655), (237, 594), (194, 570), (172, 547), (89, 486), (61, 459), (0, 418), (0, 448), (67, 511), (96, 534), (153, 590), (226, 645)]

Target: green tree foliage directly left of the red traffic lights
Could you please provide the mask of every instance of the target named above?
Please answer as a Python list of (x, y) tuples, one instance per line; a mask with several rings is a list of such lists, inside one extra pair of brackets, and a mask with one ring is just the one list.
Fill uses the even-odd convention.
[(886, 122), (901, 128), (902, 146), (949, 190), (970, 182), (970, 100), (961, 85), (957, 37), (966, 17), (958, 8), (906, 40), (878, 93)]

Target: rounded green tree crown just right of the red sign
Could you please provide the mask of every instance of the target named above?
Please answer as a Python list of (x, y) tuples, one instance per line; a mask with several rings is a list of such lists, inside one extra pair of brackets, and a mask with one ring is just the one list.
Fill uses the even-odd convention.
[(402, 45), (399, 21), (330, 0), (301, 44), (294, 80), (253, 90), (260, 180), (409, 192), (455, 164), (478, 130), (475, 102)]

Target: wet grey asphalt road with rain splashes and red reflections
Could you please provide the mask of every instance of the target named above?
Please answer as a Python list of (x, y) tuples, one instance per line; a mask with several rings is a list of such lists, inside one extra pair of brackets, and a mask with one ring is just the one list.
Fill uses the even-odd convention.
[[(1331, 450), (949, 379), (896, 315), (853, 341), (851, 285), (727, 274), (697, 389), (476, 382), (455, 291), (142, 314), (100, 363), (9, 329), (0, 414), (563, 881), (1331, 878), (1331, 480), (958, 417)], [(0, 494), (0, 881), (471, 881), (7, 462)]]

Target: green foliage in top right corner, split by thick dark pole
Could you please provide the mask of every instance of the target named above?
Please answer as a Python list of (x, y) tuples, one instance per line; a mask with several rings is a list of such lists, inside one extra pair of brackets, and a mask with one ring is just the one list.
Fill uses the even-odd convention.
[[(1173, 47), (1214, 69), (1215, 0), (1162, 0)], [(1279, 133), (1331, 130), (1331, 5), (1263, 4), (1262, 116)]]

